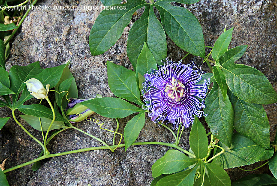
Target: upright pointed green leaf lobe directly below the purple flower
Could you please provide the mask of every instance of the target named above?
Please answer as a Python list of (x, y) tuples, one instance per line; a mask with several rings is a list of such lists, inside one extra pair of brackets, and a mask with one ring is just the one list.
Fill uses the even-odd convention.
[(195, 116), (190, 133), (190, 148), (196, 158), (202, 159), (208, 154), (208, 138), (202, 123)]

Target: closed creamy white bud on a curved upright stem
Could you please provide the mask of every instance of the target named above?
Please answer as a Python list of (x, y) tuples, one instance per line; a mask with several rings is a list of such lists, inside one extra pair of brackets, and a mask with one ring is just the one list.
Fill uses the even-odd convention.
[(25, 81), (27, 90), (31, 92), (30, 94), (37, 99), (45, 99), (47, 97), (50, 85), (46, 85), (46, 89), (43, 87), (42, 83), (35, 78), (31, 78)]

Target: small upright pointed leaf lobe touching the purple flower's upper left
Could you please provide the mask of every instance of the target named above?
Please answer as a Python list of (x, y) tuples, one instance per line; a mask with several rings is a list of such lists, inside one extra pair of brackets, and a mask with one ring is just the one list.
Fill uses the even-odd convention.
[(144, 42), (143, 49), (139, 54), (136, 72), (140, 73), (141, 75), (144, 75), (150, 69), (157, 70), (157, 63), (151, 51), (149, 50), (146, 42)]

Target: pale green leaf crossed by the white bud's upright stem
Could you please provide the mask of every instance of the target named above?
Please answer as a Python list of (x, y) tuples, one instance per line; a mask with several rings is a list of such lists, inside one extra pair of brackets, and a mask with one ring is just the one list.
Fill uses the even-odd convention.
[[(29, 123), (29, 125), (31, 125), (34, 129), (41, 131), (39, 117), (35, 117), (32, 115), (20, 115), (20, 117), (22, 117), (22, 119)], [(51, 121), (52, 119), (49, 118), (41, 118), (41, 125), (43, 131), (47, 131)], [(65, 127), (62, 121), (54, 121), (50, 127), (50, 130), (60, 129), (62, 127)]]

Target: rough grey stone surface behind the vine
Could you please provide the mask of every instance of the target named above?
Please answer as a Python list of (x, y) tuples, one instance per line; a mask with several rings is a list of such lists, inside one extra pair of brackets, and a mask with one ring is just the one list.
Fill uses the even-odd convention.
[[(37, 5), (68, 6), (76, 5), (74, 1), (61, 2), (44, 0)], [(99, 1), (80, 0), (78, 6), (99, 6)], [(277, 3), (276, 0), (201, 0), (193, 5), (177, 6), (188, 8), (199, 19), (203, 28), (205, 44), (212, 46), (218, 36), (227, 28), (234, 27), (230, 48), (248, 44), (246, 54), (238, 62), (253, 66), (265, 73), (275, 90), (277, 90)], [(32, 10), (22, 24), (21, 32), (12, 43), (10, 58), (6, 68), (12, 65), (27, 65), (40, 61), (42, 67), (53, 67), (64, 64), (71, 58), (70, 71), (73, 73), (80, 98), (112, 97), (107, 84), (107, 60), (132, 69), (126, 55), (128, 31), (135, 20), (142, 14), (134, 15), (130, 24), (124, 29), (122, 37), (102, 55), (92, 57), (89, 51), (89, 33), (100, 10)], [(56, 41), (57, 40), (57, 41)], [(186, 52), (167, 38), (168, 56), (180, 60)], [(206, 54), (210, 49), (206, 50)], [(194, 60), (202, 64), (199, 57), (189, 55), (184, 61)], [(209, 71), (204, 64), (203, 70)], [(271, 125), (271, 137), (275, 135), (277, 123), (277, 104), (265, 105)], [(11, 116), (10, 111), (0, 108), (0, 116)], [(134, 116), (134, 115), (132, 115)], [(116, 122), (94, 114), (93, 117), (104, 122), (106, 129), (115, 129)], [(126, 121), (130, 116), (120, 120), (119, 132), (123, 133)], [(40, 132), (32, 129), (23, 120), (18, 120), (40, 139)], [(112, 143), (112, 134), (99, 129), (92, 121), (76, 124), (76, 127)], [(190, 128), (185, 129), (181, 145), (188, 149)], [(118, 138), (117, 138), (118, 139)], [(173, 138), (166, 129), (159, 128), (149, 119), (139, 135), (139, 142), (162, 141), (172, 143)], [(54, 138), (49, 144), (52, 153), (64, 152), (79, 148), (102, 145), (90, 137), (69, 129)], [(81, 152), (59, 156), (42, 161), (42, 167), (33, 172), (31, 165), (17, 169), (7, 175), (10, 185), (150, 185), (151, 165), (167, 151), (167, 147), (156, 145), (133, 146), (126, 152), (123, 148), (111, 153), (108, 150)], [(30, 139), (12, 120), (0, 132), (0, 163), (5, 161), (5, 168), (34, 159), (40, 147)], [(249, 166), (257, 167), (257, 165)], [(231, 180), (236, 180), (249, 172), (238, 169), (227, 171)], [(268, 172), (265, 167), (259, 173)], [(252, 172), (250, 172), (252, 173)], [(258, 173), (258, 172), (255, 172)]]

